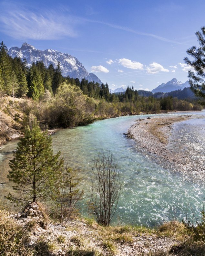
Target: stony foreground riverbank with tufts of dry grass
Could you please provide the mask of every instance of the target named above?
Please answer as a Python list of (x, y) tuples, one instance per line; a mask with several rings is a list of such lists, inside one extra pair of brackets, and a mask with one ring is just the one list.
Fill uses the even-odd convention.
[(42, 205), (31, 203), (27, 208), (35, 209), (33, 212), (37, 217), (26, 217), (28, 210), (12, 215), (5, 210), (0, 211), (1, 253), (21, 251), (21, 255), (25, 256), (157, 256), (172, 254), (178, 248), (183, 251), (185, 247), (183, 239), (187, 237), (186, 229), (177, 221), (155, 229), (131, 225), (102, 227), (93, 219), (80, 218), (67, 220), (61, 225), (46, 215)]

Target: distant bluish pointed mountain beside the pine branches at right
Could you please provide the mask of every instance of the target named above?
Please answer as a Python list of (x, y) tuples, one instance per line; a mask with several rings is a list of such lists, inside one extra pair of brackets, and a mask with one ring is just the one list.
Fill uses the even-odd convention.
[(185, 83), (179, 82), (176, 78), (173, 78), (171, 81), (167, 83), (160, 84), (157, 88), (152, 90), (152, 93), (155, 92), (170, 92), (175, 90), (183, 90), (185, 87), (190, 87), (190, 84), (188, 81)]

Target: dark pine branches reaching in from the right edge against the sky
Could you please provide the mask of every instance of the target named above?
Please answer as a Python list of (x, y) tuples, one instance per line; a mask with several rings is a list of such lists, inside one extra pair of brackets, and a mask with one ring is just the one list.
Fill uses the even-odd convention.
[(197, 31), (196, 36), (200, 47), (192, 46), (187, 50), (194, 60), (184, 58), (184, 62), (190, 65), (194, 71), (188, 71), (191, 90), (197, 97), (205, 99), (205, 27), (201, 27), (201, 32)]

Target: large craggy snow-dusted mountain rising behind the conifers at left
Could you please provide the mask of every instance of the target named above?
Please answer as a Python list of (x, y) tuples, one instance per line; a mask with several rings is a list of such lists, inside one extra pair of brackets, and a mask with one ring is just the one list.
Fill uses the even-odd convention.
[(42, 51), (36, 49), (32, 45), (23, 43), (21, 48), (11, 47), (8, 51), (8, 54), (12, 58), (19, 57), (22, 60), (26, 59), (29, 66), (33, 62), (36, 63), (36, 61), (43, 60), (46, 67), (48, 67), (50, 64), (53, 64), (54, 68), (56, 68), (59, 61), (63, 76), (69, 75), (70, 77), (78, 78), (79, 80), (85, 78), (88, 81), (102, 83), (95, 74), (88, 73), (83, 64), (80, 63), (77, 58), (67, 53), (62, 53), (51, 49)]

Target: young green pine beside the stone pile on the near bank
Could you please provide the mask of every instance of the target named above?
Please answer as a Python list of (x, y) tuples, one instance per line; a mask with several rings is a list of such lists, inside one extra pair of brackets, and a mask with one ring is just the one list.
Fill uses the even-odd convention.
[(25, 137), (20, 139), (14, 159), (10, 160), (8, 178), (16, 185), (16, 196), (8, 199), (18, 202), (45, 199), (54, 186), (56, 172), (62, 167), (60, 152), (53, 154), (52, 139), (41, 132), (36, 118), (30, 117)]

